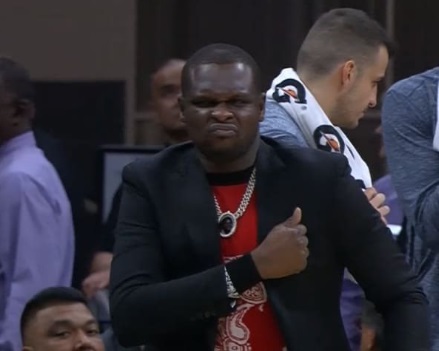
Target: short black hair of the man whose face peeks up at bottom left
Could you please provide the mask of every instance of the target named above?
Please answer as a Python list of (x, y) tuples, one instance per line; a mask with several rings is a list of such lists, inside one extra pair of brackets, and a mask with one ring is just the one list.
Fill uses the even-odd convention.
[(40, 291), (26, 303), (23, 313), (21, 314), (21, 337), (24, 338), (26, 327), (39, 311), (56, 304), (69, 303), (82, 303), (87, 306), (85, 296), (74, 288), (51, 287)]

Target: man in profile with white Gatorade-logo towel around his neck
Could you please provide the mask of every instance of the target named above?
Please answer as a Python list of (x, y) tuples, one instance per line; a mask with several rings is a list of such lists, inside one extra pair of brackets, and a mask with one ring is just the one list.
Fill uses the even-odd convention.
[[(366, 163), (340, 127), (355, 128), (377, 103), (392, 45), (384, 29), (363, 11), (335, 9), (322, 15), (305, 38), (297, 71), (283, 69), (267, 92), (261, 133), (289, 146), (343, 154), (352, 176), (383, 220), (389, 208), (372, 187)], [(341, 297), (345, 329), (359, 350), (363, 293), (346, 274)]]

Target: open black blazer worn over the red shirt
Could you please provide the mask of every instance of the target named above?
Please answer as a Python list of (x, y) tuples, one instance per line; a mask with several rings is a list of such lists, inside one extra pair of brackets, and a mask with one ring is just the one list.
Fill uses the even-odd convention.
[[(296, 206), (308, 228), (306, 270), (264, 282), (288, 350), (349, 350), (339, 310), (345, 267), (384, 315), (386, 350), (428, 350), (425, 295), (346, 159), (263, 139), (256, 167), (259, 242)], [(214, 201), (193, 145), (130, 164), (123, 184), (110, 283), (115, 333), (126, 346), (212, 350), (217, 319), (232, 308)]]

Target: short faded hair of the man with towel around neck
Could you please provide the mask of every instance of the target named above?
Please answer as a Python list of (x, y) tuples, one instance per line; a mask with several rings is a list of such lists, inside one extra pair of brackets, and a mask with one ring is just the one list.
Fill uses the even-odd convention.
[(323, 14), (312, 26), (297, 56), (297, 70), (319, 77), (338, 64), (368, 62), (384, 46), (389, 56), (395, 47), (384, 28), (364, 11), (339, 8)]

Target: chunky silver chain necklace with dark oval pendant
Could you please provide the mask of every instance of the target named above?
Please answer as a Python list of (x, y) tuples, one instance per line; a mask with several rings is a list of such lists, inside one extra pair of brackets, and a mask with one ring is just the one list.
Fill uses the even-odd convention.
[(240, 218), (245, 210), (247, 209), (250, 199), (253, 195), (256, 185), (256, 168), (253, 168), (252, 174), (245, 189), (245, 193), (242, 196), (241, 203), (235, 213), (230, 211), (222, 212), (221, 207), (215, 195), (213, 199), (215, 201), (216, 214), (218, 216), (218, 226), (220, 229), (220, 236), (222, 238), (230, 238), (236, 232), (236, 227), (238, 225), (238, 218)]

